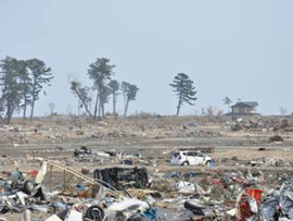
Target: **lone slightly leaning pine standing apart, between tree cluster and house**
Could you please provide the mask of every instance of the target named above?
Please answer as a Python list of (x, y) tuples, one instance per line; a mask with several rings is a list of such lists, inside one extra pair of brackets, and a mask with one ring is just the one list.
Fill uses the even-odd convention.
[(177, 112), (176, 115), (179, 115), (180, 108), (183, 103), (188, 103), (190, 106), (194, 106), (198, 98), (195, 97), (196, 90), (193, 86), (193, 81), (189, 78), (189, 76), (184, 73), (178, 73), (170, 84), (173, 87), (173, 91), (176, 93), (178, 97)]

